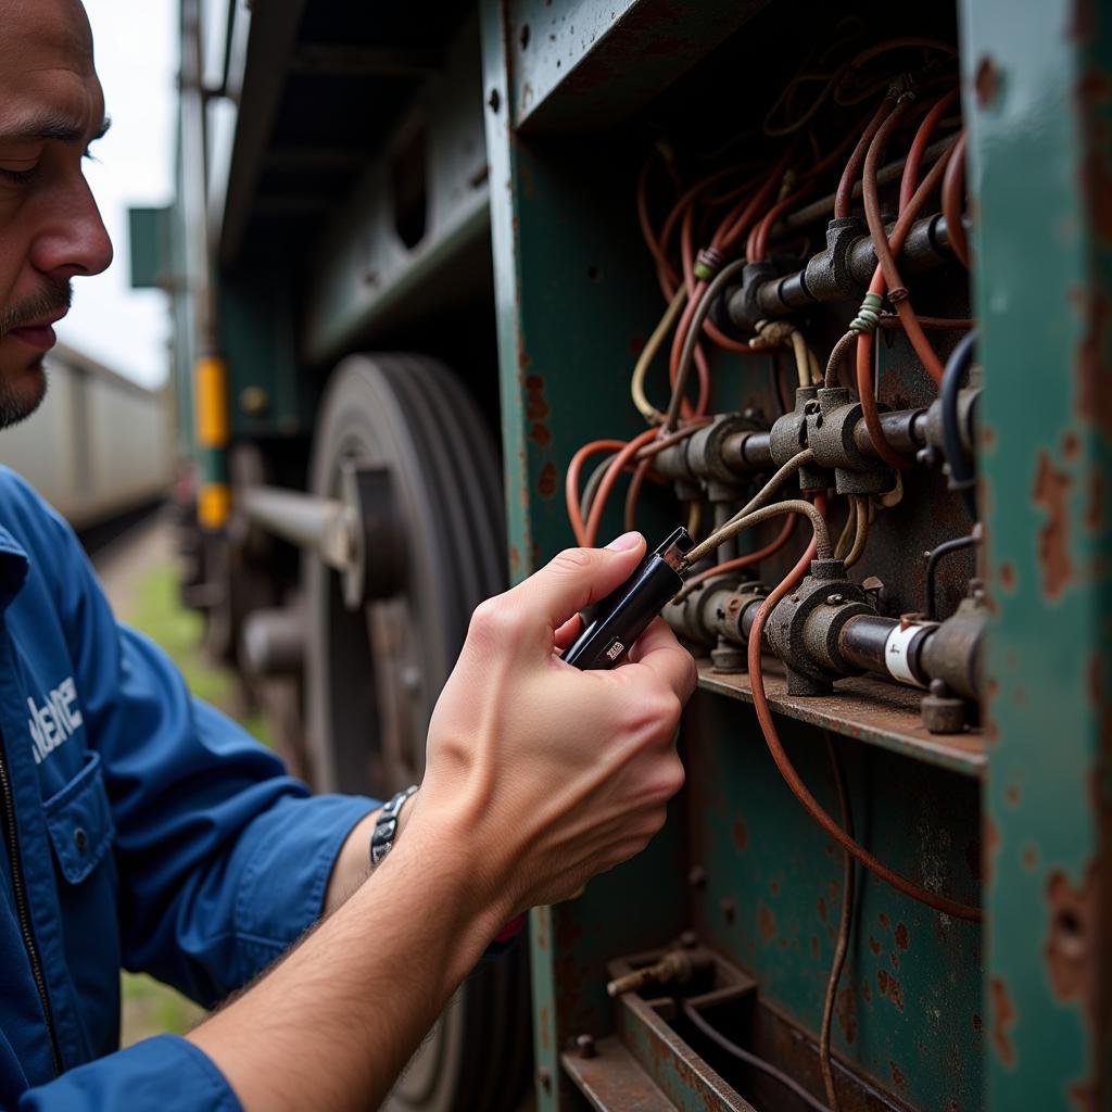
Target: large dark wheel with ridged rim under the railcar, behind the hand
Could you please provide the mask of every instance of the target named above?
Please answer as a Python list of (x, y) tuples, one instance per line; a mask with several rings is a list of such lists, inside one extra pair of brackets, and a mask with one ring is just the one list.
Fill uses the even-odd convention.
[[(308, 745), (319, 788), (383, 796), (420, 780), (429, 716), (470, 613), (505, 587), (502, 484), (475, 404), (424, 356), (351, 356), (336, 369), (312, 490), (337, 497), (353, 464), (389, 474), (406, 582), (353, 612), (339, 576), (307, 562)], [(525, 946), (477, 969), (386, 1108), (515, 1108), (529, 1069), (526, 984)]]

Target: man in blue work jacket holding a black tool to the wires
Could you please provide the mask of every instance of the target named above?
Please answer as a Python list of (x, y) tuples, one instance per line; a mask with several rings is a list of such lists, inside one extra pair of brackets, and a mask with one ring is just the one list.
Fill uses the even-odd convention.
[[(42, 398), (71, 279), (111, 258), (81, 173), (102, 130), (78, 0), (0, 0), (0, 426)], [(190, 698), (0, 469), (0, 1105), (377, 1104), (503, 924), (664, 822), (691, 657), (659, 623), (613, 673), (556, 654), (643, 552), (570, 550), (479, 607), (367, 878), (377, 805), (310, 798)], [(254, 984), (119, 1051), (121, 965), (207, 1005)]]

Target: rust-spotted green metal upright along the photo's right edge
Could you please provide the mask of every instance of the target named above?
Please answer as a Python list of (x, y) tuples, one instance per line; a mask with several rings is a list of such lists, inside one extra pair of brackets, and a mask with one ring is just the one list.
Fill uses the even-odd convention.
[(1112, 1106), (1112, 11), (962, 4), (990, 584), (989, 1104)]

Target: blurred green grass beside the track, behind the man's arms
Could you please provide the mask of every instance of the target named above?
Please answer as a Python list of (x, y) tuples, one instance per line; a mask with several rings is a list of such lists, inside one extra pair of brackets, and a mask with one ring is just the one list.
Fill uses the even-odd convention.
[[(264, 719), (255, 714), (244, 717), (234, 673), (206, 658), (201, 648), (203, 619), (181, 605), (172, 564), (142, 575), (132, 597), (130, 612), (119, 617), (166, 651), (195, 695), (241, 721), (269, 745)], [(163, 1032), (183, 1034), (205, 1016), (205, 1011), (192, 1001), (142, 973), (121, 975), (121, 1046)]]

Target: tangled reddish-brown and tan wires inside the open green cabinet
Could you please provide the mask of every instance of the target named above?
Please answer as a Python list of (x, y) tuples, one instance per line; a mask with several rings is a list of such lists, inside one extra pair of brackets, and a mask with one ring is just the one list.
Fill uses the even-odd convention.
[[(813, 534), (810, 545), (757, 612), (748, 636), (748, 672), (757, 719), (773, 759), (800, 803), (845, 855), (843, 912), (821, 1036), (824, 1086), (827, 1104), (834, 1110), (838, 1104), (831, 1066), (830, 1024), (851, 929), (853, 864), (860, 863), (884, 883), (941, 914), (966, 921), (981, 919), (979, 907), (929, 891), (896, 873), (853, 836), (844, 774), (832, 742), (828, 742), (828, 752), (841, 804), (841, 822), (835, 821), (815, 800), (781, 743), (765, 692), (762, 659), (763, 631), (768, 615), (807, 573), (816, 554), (821, 558), (837, 556), (847, 567), (857, 563), (865, 552), (870, 526), (876, 514), (898, 500), (902, 492), (898, 475), (910, 466), (910, 461), (888, 444), (881, 425), (873, 380), (875, 329), (901, 328), (926, 373), (941, 385), (943, 366), (926, 338), (925, 330), (969, 329), (972, 325), (969, 320), (921, 318), (913, 308), (896, 262), (912, 226), (940, 187), (943, 215), (947, 221), (954, 254), (966, 267), (970, 262), (962, 214), (964, 132), (952, 135), (950, 142), (941, 148), (939, 145), (931, 147), (931, 140), (942, 126), (946, 112), (956, 103), (957, 89), (945, 89), (933, 100), (926, 101), (921, 101), (912, 91), (917, 88), (922, 92), (924, 88), (929, 89), (940, 81), (953, 85), (953, 78), (934, 75), (916, 87), (903, 76), (896, 80), (868, 76), (870, 63), (875, 63), (893, 51), (909, 50), (949, 56), (954, 52), (951, 46), (934, 40), (892, 39), (860, 51), (848, 62), (830, 72), (812, 71), (805, 62), (790, 82), (791, 92), (786, 90), (777, 99), (765, 120), (766, 133), (773, 139), (783, 137), (786, 142), (780, 157), (764, 169), (752, 165), (721, 169), (684, 189), (667, 149), (662, 149), (646, 161), (637, 183), (637, 217), (665, 300), (664, 314), (636, 360), (631, 386), (634, 406), (648, 427), (628, 441), (599, 439), (584, 445), (572, 458), (565, 486), (568, 518), (576, 540), (580, 545), (594, 545), (606, 505), (623, 473), (629, 473), (625, 525), (627, 528), (635, 527), (637, 500), (645, 483), (663, 481), (653, 470), (654, 457), (711, 420), (707, 416), (712, 399), (707, 344), (746, 358), (758, 351), (787, 348), (792, 353), (795, 377), (801, 386), (837, 385), (844, 370), (843, 365), (851, 350), (854, 351), (853, 381), (862, 416), (878, 456), (895, 471), (897, 486), (894, 493), (880, 497), (851, 496), (847, 499), (844, 528), (837, 544), (833, 545), (826, 522), (827, 498), (824, 494), (816, 495), (813, 500), (802, 497), (773, 500), (801, 467), (813, 461), (808, 450), (801, 451), (772, 475), (738, 513), (699, 539), (688, 554), (687, 564), (692, 566), (698, 563), (746, 529), (783, 516), (786, 519), (775, 537), (755, 552), (734, 556), (692, 575), (682, 592), (687, 594), (707, 579), (728, 572), (766, 564), (790, 544), (798, 518), (807, 519)], [(785, 105), (792, 102), (796, 91), (806, 85), (821, 87), (812, 105), (794, 121), (771, 122), (782, 113)], [(807, 137), (810, 143), (803, 140), (804, 130), (815, 122), (826, 106), (864, 105), (877, 95), (878, 103), (828, 153), (820, 152), (813, 132)], [(880, 168), (894, 137), (907, 123), (913, 122), (920, 112), (922, 119), (903, 160), (897, 220), (888, 232), (880, 202)], [(924, 175), (922, 171), (929, 151), (935, 155), (935, 161)], [(816, 189), (826, 171), (843, 158), (845, 162), (834, 192), (833, 215), (840, 218), (851, 214), (860, 177), (865, 219), (877, 265), (857, 317), (850, 330), (832, 347), (824, 375), (806, 338), (791, 322), (762, 322), (755, 336), (742, 340), (724, 335), (711, 321), (709, 315), (725, 289), (731, 284), (736, 284), (739, 271), (747, 262), (768, 257), (770, 245), (777, 230), (783, 227), (783, 221), (800, 201)], [(659, 230), (654, 227), (649, 203), (653, 173), (658, 167), (663, 168), (669, 187), (677, 193)], [(696, 229), (702, 227), (712, 227), (713, 231), (706, 246), (696, 250)], [(884, 316), (881, 311), (885, 298), (894, 309), (891, 316)], [(963, 345), (962, 348), (965, 353), (962, 358), (967, 363), (970, 345)], [(667, 405), (659, 408), (649, 398), (647, 383), (654, 361), (665, 349), (669, 396)], [(691, 397), (689, 381), (693, 371), (696, 387), (694, 397)], [(951, 380), (956, 381), (956, 374), (951, 375)], [(950, 393), (956, 395), (956, 388)], [(586, 484), (582, 485), (584, 466), (596, 456), (600, 457), (600, 461), (596, 464)], [(971, 496), (966, 497), (971, 500)], [(699, 517), (701, 504), (696, 499), (688, 507), (688, 528), (693, 536), (697, 534)], [(718, 1041), (721, 1045), (722, 1040)]]

